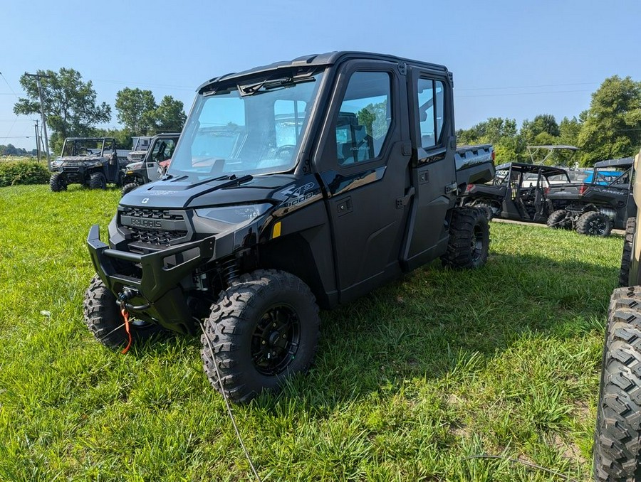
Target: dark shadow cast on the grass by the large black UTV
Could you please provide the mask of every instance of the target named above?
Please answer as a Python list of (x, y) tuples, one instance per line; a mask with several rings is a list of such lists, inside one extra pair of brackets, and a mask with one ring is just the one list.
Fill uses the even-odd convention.
[[(532, 255), (496, 254), (475, 271), (433, 262), (323, 311), (310, 372), (254, 405), (301, 402), (331, 411), (373, 392), (397, 391), (408, 379), (445, 377), (462, 360), (482, 365), (527, 334), (561, 340), (601, 331), (616, 277), (610, 267)], [(165, 358), (188, 347), (200, 349), (198, 334), (166, 333), (131, 354)]]

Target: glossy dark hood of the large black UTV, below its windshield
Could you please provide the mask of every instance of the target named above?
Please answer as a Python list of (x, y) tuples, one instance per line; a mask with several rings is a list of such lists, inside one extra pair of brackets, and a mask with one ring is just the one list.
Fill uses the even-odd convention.
[(231, 176), (207, 181), (160, 179), (125, 194), (120, 205), (145, 208), (187, 209), (214, 205), (251, 204), (280, 200), (275, 196), (284, 186), (296, 181), (290, 175)]

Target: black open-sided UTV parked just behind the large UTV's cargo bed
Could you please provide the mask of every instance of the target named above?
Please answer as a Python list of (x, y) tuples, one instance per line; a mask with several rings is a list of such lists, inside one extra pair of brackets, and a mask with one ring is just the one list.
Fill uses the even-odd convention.
[(546, 198), (550, 186), (569, 182), (563, 168), (508, 162), (496, 166), (491, 183), (467, 186), (462, 203), (483, 209), (488, 219), (545, 223), (552, 212)]

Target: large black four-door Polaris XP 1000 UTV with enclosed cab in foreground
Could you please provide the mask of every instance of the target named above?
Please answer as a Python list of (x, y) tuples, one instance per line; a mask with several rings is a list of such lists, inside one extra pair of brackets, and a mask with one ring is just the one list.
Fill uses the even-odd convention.
[(204, 83), (167, 175), (123, 196), (109, 245), (89, 232), (85, 323), (111, 347), (202, 331), (207, 377), (246, 402), (308, 368), (318, 306), (438, 257), (480, 267), (488, 223), (457, 196), (494, 153), (457, 150), (452, 100), (447, 68), (374, 53)]

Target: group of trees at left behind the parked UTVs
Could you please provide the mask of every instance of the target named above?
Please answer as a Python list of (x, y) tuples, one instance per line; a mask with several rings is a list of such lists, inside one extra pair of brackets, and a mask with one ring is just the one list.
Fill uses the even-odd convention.
[[(66, 137), (114, 137), (118, 146), (128, 149), (131, 137), (153, 135), (159, 132), (181, 132), (187, 115), (184, 105), (171, 95), (156, 102), (151, 90), (125, 87), (116, 94), (115, 109), (123, 129), (100, 129), (98, 124), (111, 121), (111, 106), (98, 103), (93, 82), (83, 81), (82, 75), (71, 68), (38, 70), (41, 75), (42, 100), (51, 131), (49, 146), (52, 154), (62, 149)], [(15, 114), (40, 114), (40, 95), (36, 79), (20, 77), (26, 97), (19, 97), (14, 105)]]

